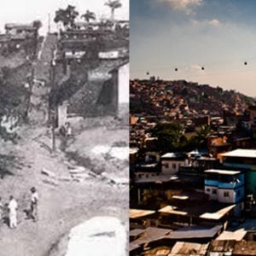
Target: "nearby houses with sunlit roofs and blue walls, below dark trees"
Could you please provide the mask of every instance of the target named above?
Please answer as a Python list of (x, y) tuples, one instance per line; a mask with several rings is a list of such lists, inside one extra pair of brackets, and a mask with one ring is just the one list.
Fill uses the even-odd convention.
[(223, 131), (205, 150), (183, 153), (160, 154), (156, 138), (131, 140), (131, 255), (256, 254), (253, 136), (229, 143)]

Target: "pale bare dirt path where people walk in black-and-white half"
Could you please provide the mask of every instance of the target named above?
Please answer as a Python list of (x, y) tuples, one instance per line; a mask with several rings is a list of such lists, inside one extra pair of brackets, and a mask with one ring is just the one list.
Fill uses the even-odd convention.
[[(24, 166), (15, 171), (15, 176), (0, 180), (3, 201), (7, 201), (9, 195), (15, 195), (20, 206), (19, 225), (16, 230), (9, 230), (6, 224), (0, 225), (1, 256), (46, 256), (50, 248), (74, 225), (96, 215), (110, 215), (123, 222), (127, 221), (127, 186), (111, 185), (102, 182), (99, 177), (90, 177), (84, 183), (60, 182), (57, 186), (44, 183), (42, 167), (58, 175), (67, 175), (67, 166), (63, 163), (62, 154), (53, 157), (38, 142), (32, 140), (40, 132), (42, 131), (24, 132), (26, 140), (22, 140), (12, 149), (20, 156)], [(87, 135), (88, 133), (90, 143), (87, 143), (87, 149), (97, 143), (109, 143), (104, 129), (102, 135), (93, 130), (86, 132)], [(29, 189), (32, 186), (38, 188), (40, 195), (37, 223), (26, 219), (23, 212), (29, 207)]]

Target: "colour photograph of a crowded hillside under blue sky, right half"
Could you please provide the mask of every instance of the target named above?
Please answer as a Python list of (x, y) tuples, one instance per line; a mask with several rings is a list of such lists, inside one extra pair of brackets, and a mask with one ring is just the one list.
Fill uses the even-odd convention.
[(255, 255), (256, 3), (130, 5), (130, 255)]

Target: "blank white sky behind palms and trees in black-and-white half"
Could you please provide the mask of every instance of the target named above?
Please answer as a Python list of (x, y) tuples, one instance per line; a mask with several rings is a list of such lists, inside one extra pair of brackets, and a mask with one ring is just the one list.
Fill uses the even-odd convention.
[[(3, 0), (2, 0), (3, 1)], [(55, 17), (55, 10), (66, 8), (67, 4), (77, 7), (80, 15), (84, 14), (87, 9), (96, 13), (98, 18), (110, 17), (110, 10), (105, 6), (105, 0), (7, 0), (3, 1), (0, 9), (0, 29), (3, 32), (3, 26), (7, 22), (31, 22), (32, 20), (42, 20), (44, 27), (41, 33), (47, 31), (48, 14), (51, 20)], [(122, 8), (116, 9), (115, 16), (118, 19), (128, 20), (129, 18), (129, 0), (120, 0)], [(55, 24), (52, 21), (52, 28)]]

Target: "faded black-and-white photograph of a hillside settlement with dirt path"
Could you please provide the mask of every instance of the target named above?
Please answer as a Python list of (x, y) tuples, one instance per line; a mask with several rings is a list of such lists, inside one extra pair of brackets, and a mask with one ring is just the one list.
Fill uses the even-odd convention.
[(0, 255), (123, 256), (129, 1), (0, 9)]

